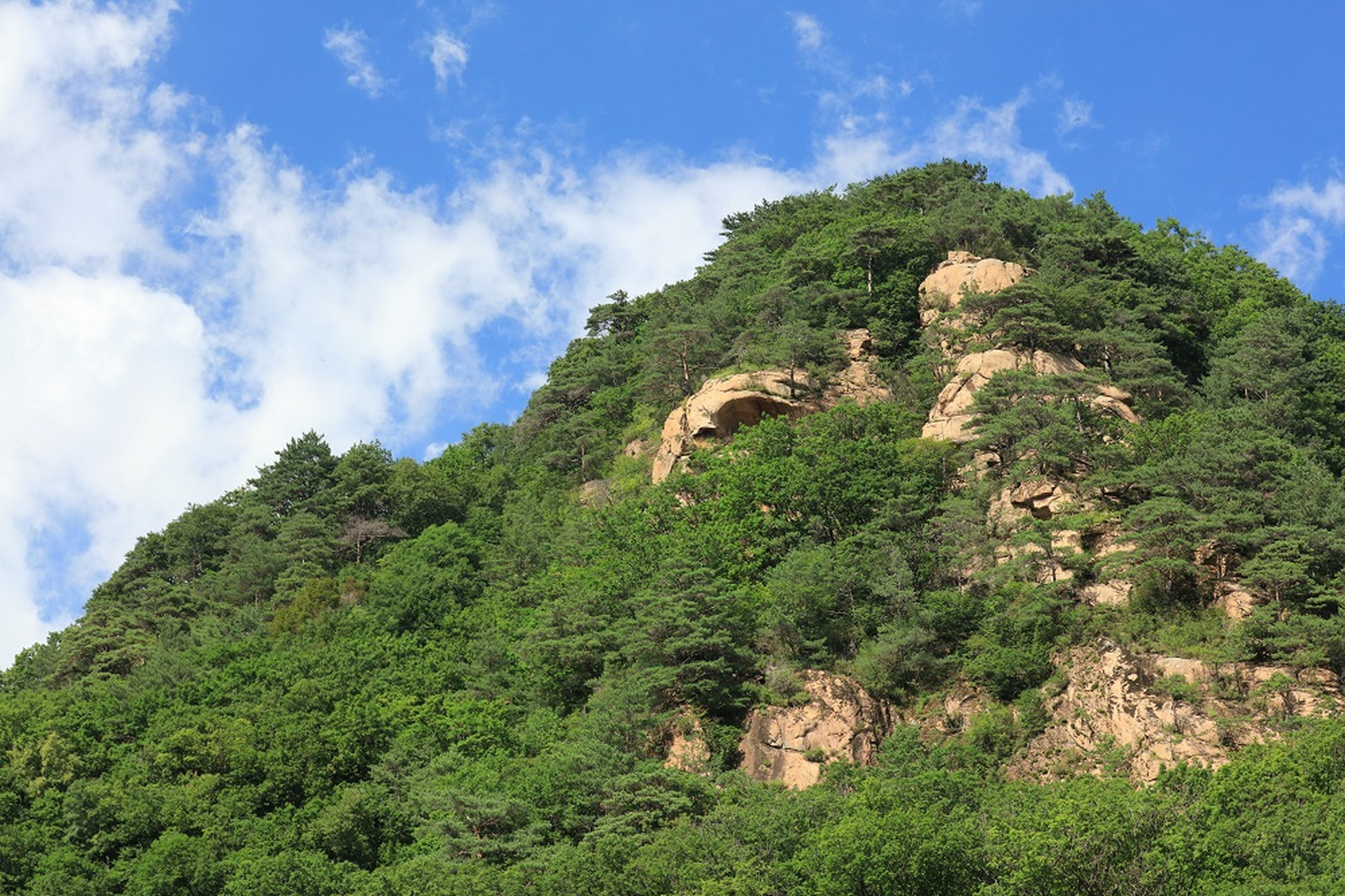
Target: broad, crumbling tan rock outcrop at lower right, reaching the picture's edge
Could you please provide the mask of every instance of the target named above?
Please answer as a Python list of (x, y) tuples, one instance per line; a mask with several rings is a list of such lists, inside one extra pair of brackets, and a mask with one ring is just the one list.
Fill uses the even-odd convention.
[[(1216, 675), (1200, 661), (1137, 655), (1108, 640), (1073, 648), (1067, 667), (1065, 689), (1046, 701), (1056, 724), (1014, 763), (1014, 776), (1123, 771), (1151, 783), (1165, 766), (1217, 768), (1239, 747), (1278, 737), (1271, 718), (1323, 714), (1340, 693), (1325, 670), (1227, 663)], [(1177, 675), (1194, 700), (1155, 687)]]

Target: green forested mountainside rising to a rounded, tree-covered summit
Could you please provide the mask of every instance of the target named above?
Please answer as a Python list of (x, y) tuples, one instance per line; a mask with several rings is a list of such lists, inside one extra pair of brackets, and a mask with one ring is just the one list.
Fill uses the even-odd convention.
[[(0, 892), (1345, 888), (1345, 315), (967, 163), (724, 231), (512, 425), (426, 463), (307, 432), (140, 538), (0, 675)], [(950, 252), (1024, 276), (921, 296)], [(670, 414), (764, 370), (785, 410), (655, 484)], [(1197, 717), (1217, 755), (1063, 745), (1116, 651), (1163, 755)], [(872, 761), (755, 780), (814, 673), (890, 718)]]

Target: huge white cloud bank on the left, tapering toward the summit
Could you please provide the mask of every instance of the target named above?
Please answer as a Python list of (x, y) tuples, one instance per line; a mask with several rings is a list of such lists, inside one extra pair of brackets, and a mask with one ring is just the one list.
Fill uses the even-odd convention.
[(22, 385), (0, 662), (296, 432), (424, 441), (508, 387), (486, 328), (510, 322), (537, 377), (589, 305), (690, 274), (725, 214), (804, 186), (753, 157), (580, 171), (535, 147), (447, 192), (359, 164), (319, 182), (252, 125), (174, 124), (183, 97), (145, 74), (167, 30), (167, 5), (0, 5), (0, 375)]

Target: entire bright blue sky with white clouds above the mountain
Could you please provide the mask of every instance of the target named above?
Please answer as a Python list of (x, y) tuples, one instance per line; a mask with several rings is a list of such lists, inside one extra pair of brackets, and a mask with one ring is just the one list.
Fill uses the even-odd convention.
[(0, 0), (0, 662), (313, 428), (432, 456), (761, 199), (943, 156), (1345, 295), (1345, 7)]

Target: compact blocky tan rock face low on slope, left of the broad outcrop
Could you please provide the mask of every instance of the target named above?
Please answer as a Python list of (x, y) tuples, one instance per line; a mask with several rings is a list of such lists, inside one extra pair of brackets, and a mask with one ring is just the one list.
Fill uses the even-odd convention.
[(808, 702), (748, 714), (738, 748), (753, 780), (810, 787), (822, 776), (822, 766), (835, 759), (872, 763), (878, 744), (892, 731), (886, 704), (854, 681), (814, 670), (800, 675)]

